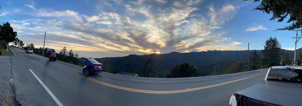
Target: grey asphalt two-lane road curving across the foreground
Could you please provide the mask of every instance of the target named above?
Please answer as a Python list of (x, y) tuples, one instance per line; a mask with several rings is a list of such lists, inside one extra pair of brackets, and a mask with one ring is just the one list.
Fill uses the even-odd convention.
[(86, 77), (80, 66), (11, 49), (15, 95), (21, 105), (226, 106), (233, 92), (264, 80), (268, 71), (170, 79), (106, 72)]

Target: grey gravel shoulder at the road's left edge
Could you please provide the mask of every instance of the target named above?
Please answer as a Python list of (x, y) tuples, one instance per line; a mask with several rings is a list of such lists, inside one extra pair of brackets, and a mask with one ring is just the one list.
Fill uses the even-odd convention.
[(0, 58), (0, 106), (20, 106), (15, 98), (11, 59)]

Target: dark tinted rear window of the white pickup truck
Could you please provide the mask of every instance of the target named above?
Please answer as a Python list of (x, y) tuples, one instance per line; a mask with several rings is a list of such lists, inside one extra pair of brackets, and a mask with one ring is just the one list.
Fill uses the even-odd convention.
[(301, 69), (271, 69), (266, 80), (301, 83)]

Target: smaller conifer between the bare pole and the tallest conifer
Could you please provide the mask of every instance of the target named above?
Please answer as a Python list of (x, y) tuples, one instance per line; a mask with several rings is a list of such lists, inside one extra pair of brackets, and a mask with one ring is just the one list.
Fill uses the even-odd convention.
[(252, 56), (249, 56), (249, 62), (252, 63), (249, 65), (250, 70), (256, 70), (261, 68), (261, 57), (257, 54), (256, 50), (254, 50)]

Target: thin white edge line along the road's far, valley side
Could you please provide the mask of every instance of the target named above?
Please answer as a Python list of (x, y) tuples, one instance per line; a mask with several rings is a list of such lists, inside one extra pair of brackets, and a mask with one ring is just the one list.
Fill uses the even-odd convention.
[[(253, 71), (258, 71), (258, 70), (262, 70), (262, 69), (257, 69), (257, 70), (253, 70)], [(247, 71), (247, 72), (253, 72), (253, 71)], [(108, 72), (103, 72), (106, 74), (110, 74), (110, 75), (116, 75), (116, 74), (111, 74)], [(239, 73), (245, 73), (245, 72), (239, 72)], [(231, 73), (231, 74), (223, 74), (223, 75), (232, 75), (232, 74), (239, 74), (239, 73)], [(223, 75), (213, 75), (213, 76), (202, 76), (202, 77), (190, 77), (190, 78), (176, 78), (176, 79), (196, 79), (196, 78), (206, 78), (206, 77), (214, 77), (214, 76), (223, 76)], [(123, 75), (116, 75), (116, 76), (123, 76)], [(123, 76), (123, 77), (129, 77), (129, 76)], [(129, 77), (129, 78), (137, 78), (137, 79), (152, 79), (152, 78), (140, 78), (140, 77)], [(156, 79), (156, 78), (154, 78)], [(162, 78), (163, 80), (167, 80), (169, 78)], [(173, 79), (173, 78), (172, 78)]]

